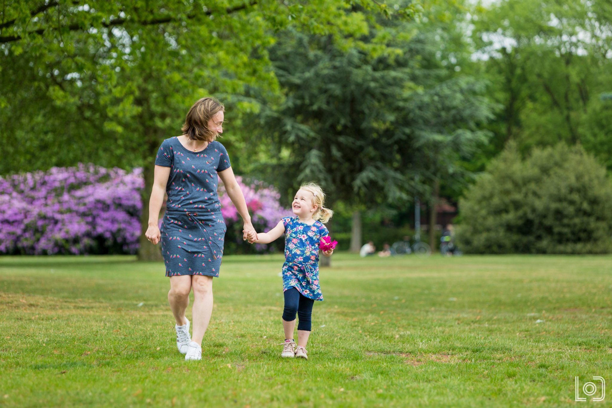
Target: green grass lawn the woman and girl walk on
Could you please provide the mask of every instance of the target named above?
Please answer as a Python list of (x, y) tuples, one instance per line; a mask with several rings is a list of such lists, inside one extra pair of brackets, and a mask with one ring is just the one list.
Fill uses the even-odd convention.
[(282, 261), (224, 258), (185, 362), (161, 262), (0, 258), (0, 406), (575, 406), (575, 376), (612, 384), (610, 256), (334, 254), (308, 361), (277, 346)]

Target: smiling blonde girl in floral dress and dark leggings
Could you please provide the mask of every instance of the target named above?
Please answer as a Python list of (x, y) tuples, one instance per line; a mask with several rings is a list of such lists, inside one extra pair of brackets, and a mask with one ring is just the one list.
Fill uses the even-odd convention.
[[(283, 292), (285, 310), (283, 311), (282, 357), (302, 357), (308, 359), (306, 343), (310, 335), (310, 315), (315, 300), (323, 300), (319, 287), (319, 240), (329, 232), (323, 225), (334, 213), (323, 207), (325, 195), (315, 183), (305, 183), (297, 191), (291, 206), (294, 217), (285, 217), (265, 233), (248, 234), (249, 242), (270, 243), (285, 234), (285, 264), (283, 264)], [(324, 252), (331, 256), (334, 250)], [(297, 347), (293, 339), (297, 325)]]

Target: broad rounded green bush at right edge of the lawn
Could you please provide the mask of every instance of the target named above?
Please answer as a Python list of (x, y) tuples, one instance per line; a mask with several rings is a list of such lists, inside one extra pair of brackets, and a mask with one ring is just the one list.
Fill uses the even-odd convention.
[(612, 185), (581, 147), (522, 158), (514, 143), (466, 193), (457, 237), (470, 253), (610, 253)]

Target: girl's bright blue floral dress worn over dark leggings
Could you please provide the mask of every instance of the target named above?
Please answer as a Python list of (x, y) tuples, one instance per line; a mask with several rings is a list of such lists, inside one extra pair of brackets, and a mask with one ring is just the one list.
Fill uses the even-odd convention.
[(294, 217), (283, 218), (285, 264), (283, 292), (295, 287), (308, 299), (323, 300), (319, 286), (319, 240), (329, 234), (321, 221), (308, 225)]

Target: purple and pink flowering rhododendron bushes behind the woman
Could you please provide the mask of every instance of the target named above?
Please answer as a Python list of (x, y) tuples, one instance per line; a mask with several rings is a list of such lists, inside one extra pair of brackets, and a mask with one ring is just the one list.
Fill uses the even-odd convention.
[[(236, 178), (258, 231), (291, 215), (278, 204), (274, 188)], [(143, 188), (140, 168), (91, 164), (0, 177), (0, 254), (135, 254)], [(222, 187), (219, 195), (228, 226), (226, 253), (272, 248), (243, 242), (240, 215)]]

